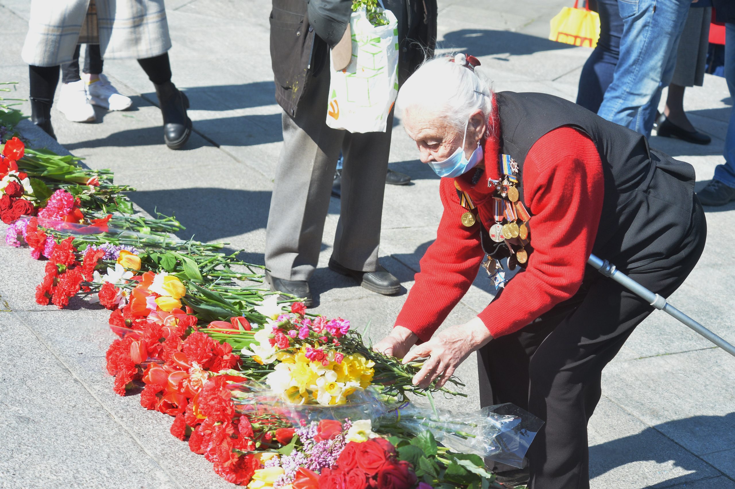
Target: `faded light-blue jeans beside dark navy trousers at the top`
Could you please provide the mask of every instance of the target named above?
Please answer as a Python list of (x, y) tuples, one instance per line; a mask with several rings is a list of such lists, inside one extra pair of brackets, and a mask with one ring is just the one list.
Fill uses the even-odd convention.
[(620, 60), (598, 115), (650, 136), (692, 0), (618, 0)]

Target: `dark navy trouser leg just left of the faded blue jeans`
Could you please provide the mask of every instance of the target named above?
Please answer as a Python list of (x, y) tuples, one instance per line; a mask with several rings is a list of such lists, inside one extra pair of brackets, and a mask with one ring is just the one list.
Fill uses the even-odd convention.
[(600, 109), (605, 90), (612, 83), (620, 57), (620, 37), (623, 35), (623, 18), (617, 9), (617, 0), (597, 0), (597, 3), (600, 39), (584, 63), (577, 92), (577, 104), (595, 114)]

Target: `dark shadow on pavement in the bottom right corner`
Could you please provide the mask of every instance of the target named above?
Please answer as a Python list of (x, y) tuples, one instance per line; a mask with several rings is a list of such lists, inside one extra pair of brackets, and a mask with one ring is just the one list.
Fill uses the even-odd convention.
[[(690, 439), (698, 438), (695, 439), (694, 443), (706, 445), (708, 443), (707, 437), (720, 438), (725, 433), (732, 432), (733, 426), (735, 426), (735, 413), (729, 413), (725, 416), (692, 416), (691, 418), (657, 424), (655, 427), (646, 428), (636, 435), (590, 446), (589, 478), (598, 477), (628, 463), (653, 461), (656, 463), (673, 462), (675, 467), (683, 468), (687, 474), (648, 486), (648, 489), (670, 488), (673, 485), (692, 482), (698, 479), (696, 473), (698, 469), (702, 468), (703, 461), (695, 455), (685, 452), (684, 449), (676, 450), (678, 453), (686, 454), (681, 459), (677, 459), (672, 450), (656, 449), (656, 446), (661, 445), (661, 433), (664, 435), (677, 433)], [(732, 446), (725, 449), (732, 449)], [(719, 451), (715, 450), (714, 452)], [(711, 477), (711, 474), (703, 475), (700, 478), (709, 477)]]

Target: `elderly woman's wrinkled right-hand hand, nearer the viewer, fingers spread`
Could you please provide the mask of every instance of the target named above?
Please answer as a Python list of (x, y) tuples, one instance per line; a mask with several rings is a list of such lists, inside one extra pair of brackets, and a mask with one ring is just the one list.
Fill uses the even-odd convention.
[(438, 378), (437, 388), (440, 388), (470, 353), (483, 347), (491, 339), (490, 331), (481, 319), (475, 317), (464, 325), (452, 326), (415, 347), (404, 357), (404, 363), (429, 357), (412, 382), (426, 388)]

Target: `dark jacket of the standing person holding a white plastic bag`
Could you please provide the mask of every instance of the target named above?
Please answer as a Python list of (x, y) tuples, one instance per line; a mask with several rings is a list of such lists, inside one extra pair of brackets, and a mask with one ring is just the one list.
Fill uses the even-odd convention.
[[(398, 84), (408, 78), (437, 40), (437, 0), (384, 0), (398, 20)], [(273, 0), (270, 60), (276, 101), (291, 117), (309, 77), (329, 66), (329, 47), (349, 23), (352, 0)]]

